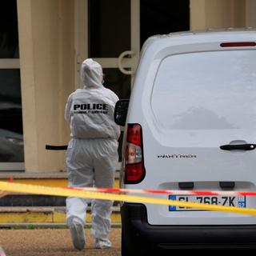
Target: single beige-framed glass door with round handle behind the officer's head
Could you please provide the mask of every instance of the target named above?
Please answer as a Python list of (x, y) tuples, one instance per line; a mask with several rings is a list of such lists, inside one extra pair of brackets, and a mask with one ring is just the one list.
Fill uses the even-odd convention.
[(76, 87), (80, 86), (81, 62), (93, 58), (102, 65), (104, 86), (119, 98), (130, 98), (140, 50), (139, 1), (77, 0), (75, 9)]

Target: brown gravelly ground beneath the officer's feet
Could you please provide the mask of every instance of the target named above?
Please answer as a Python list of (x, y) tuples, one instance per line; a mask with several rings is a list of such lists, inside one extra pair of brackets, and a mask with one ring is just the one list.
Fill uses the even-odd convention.
[(120, 256), (121, 229), (113, 228), (110, 233), (111, 249), (94, 249), (90, 230), (86, 229), (86, 248), (75, 250), (67, 229), (0, 230), (0, 244), (6, 256)]

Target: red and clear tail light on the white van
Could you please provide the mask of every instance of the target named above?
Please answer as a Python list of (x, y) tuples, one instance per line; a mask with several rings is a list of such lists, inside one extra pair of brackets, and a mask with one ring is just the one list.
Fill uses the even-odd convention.
[(142, 151), (142, 126), (139, 124), (128, 124), (126, 138), (126, 184), (136, 184), (142, 182), (145, 177)]

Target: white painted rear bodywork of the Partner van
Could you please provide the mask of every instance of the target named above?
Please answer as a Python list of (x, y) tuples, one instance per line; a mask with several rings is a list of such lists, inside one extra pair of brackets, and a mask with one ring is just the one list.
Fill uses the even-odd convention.
[[(220, 149), (256, 143), (256, 47), (220, 46), (255, 41), (256, 31), (245, 30), (171, 34), (145, 43), (126, 122), (142, 126), (146, 176), (123, 186), (179, 190), (179, 182), (193, 182), (194, 190), (221, 190), (219, 182), (234, 182), (234, 190), (256, 190), (256, 150)], [(256, 207), (256, 198), (245, 200)], [(256, 224), (253, 216), (215, 211), (146, 204), (146, 212), (150, 225)]]

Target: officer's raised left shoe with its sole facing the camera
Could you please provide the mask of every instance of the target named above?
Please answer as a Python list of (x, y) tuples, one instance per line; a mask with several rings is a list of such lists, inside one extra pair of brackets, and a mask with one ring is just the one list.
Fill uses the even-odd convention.
[(74, 248), (82, 250), (86, 245), (85, 230), (82, 224), (73, 221), (70, 225), (70, 234)]

